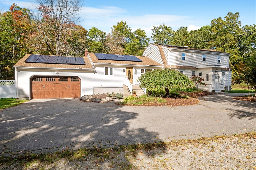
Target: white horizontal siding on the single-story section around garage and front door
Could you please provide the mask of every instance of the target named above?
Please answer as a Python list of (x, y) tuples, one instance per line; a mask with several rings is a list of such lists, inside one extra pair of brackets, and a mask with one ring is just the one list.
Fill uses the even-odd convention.
[[(113, 66), (106, 66), (113, 67)], [(157, 67), (143, 67), (158, 69)], [(123, 72), (125, 69), (125, 73)], [(137, 69), (137, 74), (135, 73)], [(18, 69), (18, 98), (29, 97), (29, 78), (33, 75), (38, 76), (79, 76), (81, 78), (81, 95), (93, 94), (94, 87), (123, 87), (123, 78), (126, 77), (126, 66), (114, 66), (113, 75), (105, 75), (105, 66), (95, 65), (93, 71), (66, 71), (66, 70), (34, 70), (34, 69)], [(133, 83), (137, 84), (136, 80), (141, 75), (140, 67), (133, 67)]]

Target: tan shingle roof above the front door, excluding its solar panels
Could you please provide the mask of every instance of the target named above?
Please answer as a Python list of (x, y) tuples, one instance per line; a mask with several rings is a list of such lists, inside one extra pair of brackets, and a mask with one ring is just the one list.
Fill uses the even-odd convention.
[(88, 53), (93, 63), (109, 63), (109, 64), (130, 64), (130, 65), (150, 65), (150, 66), (164, 66), (148, 57), (136, 56), (143, 62), (135, 61), (116, 61), (116, 60), (98, 60), (94, 53)]

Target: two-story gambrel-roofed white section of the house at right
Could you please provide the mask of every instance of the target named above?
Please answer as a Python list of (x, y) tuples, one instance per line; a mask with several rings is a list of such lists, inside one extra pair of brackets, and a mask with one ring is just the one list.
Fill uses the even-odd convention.
[(163, 64), (165, 69), (179, 70), (188, 77), (203, 77), (207, 86), (199, 88), (209, 92), (231, 90), (229, 55), (216, 50), (153, 43), (143, 52), (143, 56)]

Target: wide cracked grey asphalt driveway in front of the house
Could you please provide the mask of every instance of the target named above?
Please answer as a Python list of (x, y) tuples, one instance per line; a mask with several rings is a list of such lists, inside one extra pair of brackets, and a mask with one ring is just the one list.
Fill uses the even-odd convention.
[[(195, 139), (256, 130), (256, 104), (214, 94), (179, 107), (37, 99), (0, 110), (0, 154)], [(5, 153), (4, 153), (5, 154)]]

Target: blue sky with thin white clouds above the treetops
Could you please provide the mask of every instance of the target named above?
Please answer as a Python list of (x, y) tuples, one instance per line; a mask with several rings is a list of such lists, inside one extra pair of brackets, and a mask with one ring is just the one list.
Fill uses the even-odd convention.
[[(13, 4), (20, 7), (36, 6), (36, 0), (0, 0), (0, 9), (9, 10)], [(256, 0), (243, 1), (84, 1), (80, 23), (89, 30), (96, 27), (107, 33), (118, 21), (126, 21), (135, 31), (144, 29), (151, 38), (153, 26), (165, 24), (173, 30), (185, 26), (189, 30), (210, 25), (214, 18), (224, 18), (229, 12), (240, 13), (242, 25), (256, 24)]]

